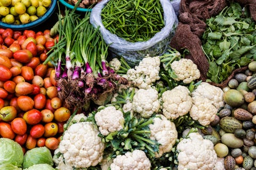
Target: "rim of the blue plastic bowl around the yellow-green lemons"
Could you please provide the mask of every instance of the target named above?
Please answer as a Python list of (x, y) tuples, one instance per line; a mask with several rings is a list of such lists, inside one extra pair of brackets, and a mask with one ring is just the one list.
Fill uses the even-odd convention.
[(26, 24), (8, 24), (0, 21), (0, 27), (5, 29), (11, 28), (13, 30), (25, 30), (25, 29), (36, 27), (37, 25), (42, 24), (44, 21), (50, 18), (50, 16), (54, 13), (56, 6), (57, 6), (57, 0), (52, 0), (52, 4), (47, 8), (47, 11), (45, 12), (45, 14), (39, 17), (37, 20), (26, 23)]

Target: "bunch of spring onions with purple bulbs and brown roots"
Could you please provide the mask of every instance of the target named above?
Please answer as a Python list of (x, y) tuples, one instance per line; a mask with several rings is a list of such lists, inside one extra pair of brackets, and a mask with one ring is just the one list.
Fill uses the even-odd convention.
[[(108, 46), (99, 27), (90, 24), (90, 14), (84, 17), (66, 10), (59, 15), (59, 42), (45, 61), (55, 66), (58, 95), (68, 108), (84, 108), (92, 100), (114, 92), (127, 80), (115, 73), (106, 61)], [(107, 98), (103, 98), (106, 100)]]

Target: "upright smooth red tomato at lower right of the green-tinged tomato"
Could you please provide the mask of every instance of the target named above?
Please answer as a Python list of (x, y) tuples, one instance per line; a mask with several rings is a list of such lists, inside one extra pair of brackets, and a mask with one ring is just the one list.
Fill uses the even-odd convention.
[(21, 117), (15, 117), (11, 122), (11, 127), (14, 133), (23, 135), (27, 132), (27, 123)]

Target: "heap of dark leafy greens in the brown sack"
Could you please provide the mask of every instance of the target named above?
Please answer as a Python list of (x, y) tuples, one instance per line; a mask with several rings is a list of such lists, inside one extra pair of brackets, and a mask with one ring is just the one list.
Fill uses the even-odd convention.
[(202, 48), (210, 64), (207, 81), (222, 83), (235, 69), (255, 60), (255, 22), (246, 7), (242, 9), (239, 3), (229, 2), (206, 24)]

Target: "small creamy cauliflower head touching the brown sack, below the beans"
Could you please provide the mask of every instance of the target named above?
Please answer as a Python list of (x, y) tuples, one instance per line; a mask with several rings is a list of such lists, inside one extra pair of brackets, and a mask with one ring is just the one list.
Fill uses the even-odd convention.
[(179, 61), (174, 61), (171, 64), (171, 69), (177, 75), (174, 80), (183, 83), (190, 83), (200, 78), (200, 71), (197, 69), (197, 65), (190, 59), (181, 58)]

